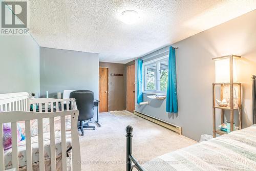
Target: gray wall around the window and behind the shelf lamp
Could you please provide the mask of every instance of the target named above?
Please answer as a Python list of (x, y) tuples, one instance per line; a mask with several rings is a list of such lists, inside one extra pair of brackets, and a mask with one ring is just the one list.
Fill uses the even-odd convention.
[[(179, 47), (176, 50), (179, 113), (166, 113), (165, 100), (150, 100), (145, 94), (144, 101), (150, 101), (150, 105), (136, 104), (136, 110), (182, 126), (183, 135), (194, 140), (198, 141), (202, 134), (211, 135), (211, 83), (215, 81), (215, 62), (211, 58), (237, 54), (242, 56), (237, 64), (238, 81), (243, 85), (242, 126), (251, 125), (251, 75), (256, 74), (255, 18), (256, 10), (174, 44), (173, 46)], [(166, 50), (168, 48), (143, 58), (162, 56), (166, 54)]]

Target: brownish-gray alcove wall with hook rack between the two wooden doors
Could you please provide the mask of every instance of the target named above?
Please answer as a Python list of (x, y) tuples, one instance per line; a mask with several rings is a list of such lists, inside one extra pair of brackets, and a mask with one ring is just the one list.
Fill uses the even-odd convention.
[[(109, 68), (109, 111), (126, 109), (126, 65), (121, 63), (99, 62), (100, 67)], [(110, 74), (123, 74), (111, 76)]]

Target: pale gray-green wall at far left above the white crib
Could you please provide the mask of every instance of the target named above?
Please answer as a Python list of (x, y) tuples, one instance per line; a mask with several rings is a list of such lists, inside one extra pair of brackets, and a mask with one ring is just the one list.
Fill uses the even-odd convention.
[(0, 93), (39, 93), (39, 46), (30, 35), (0, 36)]

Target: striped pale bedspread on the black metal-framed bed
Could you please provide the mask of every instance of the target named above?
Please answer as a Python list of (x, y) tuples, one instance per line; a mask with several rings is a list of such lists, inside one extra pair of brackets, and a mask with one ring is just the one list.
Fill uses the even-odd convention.
[(256, 125), (157, 157), (145, 170), (256, 170)]

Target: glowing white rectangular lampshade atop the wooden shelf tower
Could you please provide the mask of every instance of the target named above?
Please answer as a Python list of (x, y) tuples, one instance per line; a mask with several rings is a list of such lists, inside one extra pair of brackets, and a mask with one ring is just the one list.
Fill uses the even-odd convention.
[(215, 61), (215, 82), (238, 82), (236, 58), (240, 58), (240, 56), (228, 55), (212, 58)]

